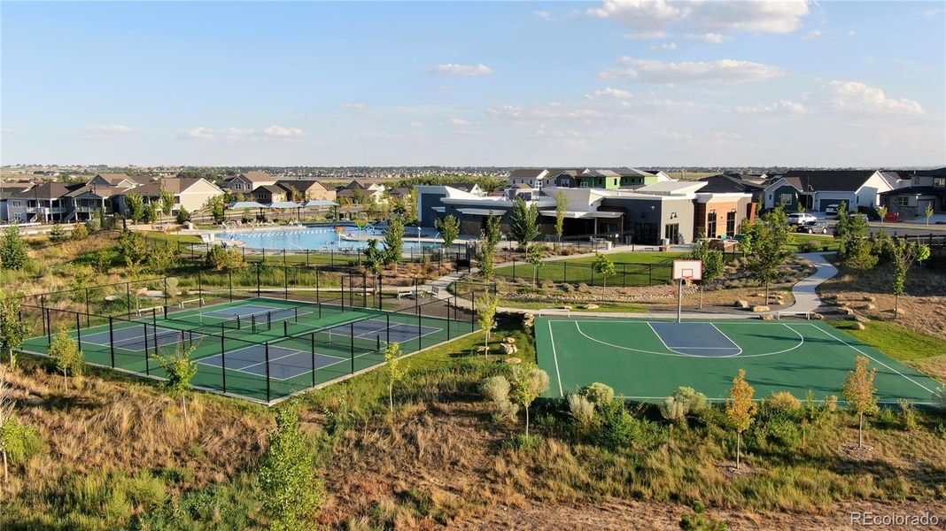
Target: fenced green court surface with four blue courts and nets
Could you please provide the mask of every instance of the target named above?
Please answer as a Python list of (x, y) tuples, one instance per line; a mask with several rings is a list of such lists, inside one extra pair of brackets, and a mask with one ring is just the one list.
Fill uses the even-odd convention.
[(164, 377), (157, 356), (193, 348), (192, 359), (198, 361), (193, 385), (270, 403), (382, 364), (389, 342), (399, 343), (407, 354), (476, 330), (471, 316), (451, 313), (446, 302), (413, 310), (253, 298), (168, 307), (166, 316), (155, 309), (111, 322), (108, 317), (60, 313), (52, 334), (27, 340), (22, 350), (46, 355), (52, 335), (64, 324), (79, 341), (86, 362)]

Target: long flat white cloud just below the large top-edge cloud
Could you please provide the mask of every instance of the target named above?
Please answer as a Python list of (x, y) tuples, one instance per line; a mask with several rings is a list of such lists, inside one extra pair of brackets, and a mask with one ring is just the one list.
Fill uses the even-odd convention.
[(643, 83), (745, 83), (783, 77), (783, 68), (749, 60), (713, 60), (661, 62), (623, 57), (620, 63), (628, 68), (610, 68), (599, 76), (604, 79), (627, 79)]

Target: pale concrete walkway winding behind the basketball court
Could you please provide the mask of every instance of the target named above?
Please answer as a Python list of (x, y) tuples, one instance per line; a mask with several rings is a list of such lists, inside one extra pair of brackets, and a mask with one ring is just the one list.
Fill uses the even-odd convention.
[[(837, 274), (837, 267), (832, 266), (828, 260), (824, 257), (822, 253), (819, 252), (809, 252), (798, 254), (800, 258), (804, 258), (812, 263), (815, 266), (815, 273), (812, 275), (801, 279), (792, 286), (792, 295), (795, 297), (795, 303), (787, 308), (780, 308), (779, 310), (772, 310), (770, 312), (762, 313), (753, 313), (753, 312), (738, 312), (732, 314), (719, 314), (719, 313), (708, 313), (708, 312), (692, 312), (688, 311), (686, 308), (683, 310), (683, 317), (688, 319), (746, 319), (746, 318), (757, 318), (763, 313), (775, 314), (775, 313), (811, 313), (817, 310), (818, 306), (821, 305), (821, 299), (817, 294), (817, 287), (821, 283), (831, 279), (834, 275)], [(569, 257), (571, 258), (571, 257)], [(497, 267), (503, 265), (497, 265)], [(470, 270), (470, 273), (478, 272), (479, 270), (474, 267)], [(447, 288), (450, 283), (454, 281), (462, 280), (466, 273), (457, 272), (450, 273), (449, 275), (440, 277), (434, 281), (421, 286), (425, 291), (429, 291), (434, 294), (438, 299), (450, 299), (452, 296), (447, 292)], [(457, 306), (461, 308), (470, 308), (472, 306), (471, 301), (457, 298)], [(537, 314), (539, 310), (529, 309), (529, 308), (515, 308), (515, 307), (503, 307), (498, 308), (499, 312), (503, 313), (531, 313)], [(559, 309), (548, 309), (541, 310), (543, 315), (570, 315), (569, 310), (559, 310)], [(668, 319), (675, 318), (676, 312), (649, 312), (649, 313), (625, 313), (625, 312), (575, 312), (575, 315), (582, 317), (618, 317), (618, 318), (637, 318), (637, 319)]]

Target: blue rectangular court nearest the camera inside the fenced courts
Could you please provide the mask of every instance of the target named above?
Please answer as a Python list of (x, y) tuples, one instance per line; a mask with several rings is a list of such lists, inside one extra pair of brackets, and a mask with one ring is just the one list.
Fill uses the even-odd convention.
[[(296, 376), (307, 374), (313, 369), (325, 368), (331, 365), (349, 361), (348, 359), (329, 356), (327, 354), (297, 351), (276, 345), (270, 346), (270, 377), (273, 380), (289, 380)], [(266, 376), (266, 346), (252, 345), (236, 351), (226, 353), (226, 359), (214, 355), (201, 359), (200, 363), (210, 367), (223, 367), (226, 362), (227, 370), (238, 370), (257, 376)]]

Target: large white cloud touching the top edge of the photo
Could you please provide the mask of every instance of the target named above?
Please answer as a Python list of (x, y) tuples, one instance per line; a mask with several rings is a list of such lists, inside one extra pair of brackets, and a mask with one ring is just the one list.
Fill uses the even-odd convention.
[(587, 14), (651, 32), (687, 24), (710, 31), (788, 33), (797, 30), (808, 14), (808, 2), (604, 0), (600, 8), (588, 9)]

